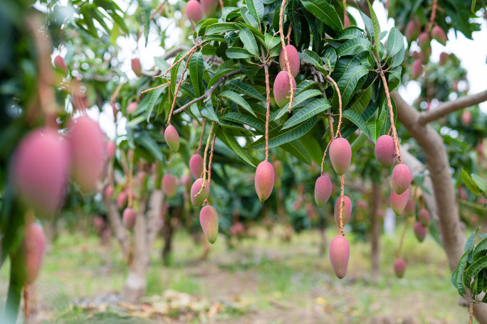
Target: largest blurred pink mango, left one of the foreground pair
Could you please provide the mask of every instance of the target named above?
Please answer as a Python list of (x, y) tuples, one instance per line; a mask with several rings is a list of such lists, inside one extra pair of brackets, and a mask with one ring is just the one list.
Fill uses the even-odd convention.
[(33, 129), (20, 141), (11, 164), (11, 182), (22, 202), (48, 214), (63, 202), (70, 151), (54, 129)]

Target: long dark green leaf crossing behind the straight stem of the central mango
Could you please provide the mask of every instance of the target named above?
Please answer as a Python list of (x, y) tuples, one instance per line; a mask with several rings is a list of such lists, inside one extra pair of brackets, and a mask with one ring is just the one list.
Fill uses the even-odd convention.
[[(315, 126), (316, 121), (318, 121), (318, 119), (316, 117), (312, 117), (303, 124), (296, 125), (286, 130), (281, 130), (281, 126), (277, 126), (275, 129), (269, 131), (269, 147), (280, 146), (284, 143), (289, 143), (290, 141), (299, 139), (301, 136), (308, 133), (313, 126)], [(266, 148), (266, 139), (264, 136), (262, 136), (260, 139), (247, 147), (254, 150)]]

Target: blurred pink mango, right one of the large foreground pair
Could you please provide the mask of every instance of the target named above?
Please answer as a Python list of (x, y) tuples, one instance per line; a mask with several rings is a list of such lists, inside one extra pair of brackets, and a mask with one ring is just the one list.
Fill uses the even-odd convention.
[(71, 123), (69, 135), (73, 180), (84, 192), (96, 189), (105, 164), (105, 139), (98, 123), (83, 116)]

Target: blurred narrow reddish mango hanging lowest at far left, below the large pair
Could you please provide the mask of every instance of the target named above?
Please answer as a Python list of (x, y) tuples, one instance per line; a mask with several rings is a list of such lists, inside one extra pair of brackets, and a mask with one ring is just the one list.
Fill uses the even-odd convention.
[(24, 239), (26, 248), (26, 284), (32, 284), (41, 271), (44, 258), (44, 232), (36, 223), (27, 225)]

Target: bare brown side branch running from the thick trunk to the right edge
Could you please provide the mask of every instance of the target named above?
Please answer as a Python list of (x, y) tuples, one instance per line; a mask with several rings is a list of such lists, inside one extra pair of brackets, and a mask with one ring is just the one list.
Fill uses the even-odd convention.
[(419, 124), (424, 126), (431, 121), (445, 117), (451, 112), (456, 112), (457, 110), (464, 109), (466, 107), (473, 106), (474, 104), (480, 104), (481, 102), (487, 101), (487, 90), (483, 92), (478, 92), (475, 95), (468, 95), (460, 97), (444, 104), (440, 104), (439, 107), (427, 112), (422, 112), (419, 117)]

